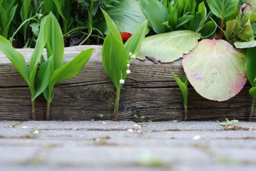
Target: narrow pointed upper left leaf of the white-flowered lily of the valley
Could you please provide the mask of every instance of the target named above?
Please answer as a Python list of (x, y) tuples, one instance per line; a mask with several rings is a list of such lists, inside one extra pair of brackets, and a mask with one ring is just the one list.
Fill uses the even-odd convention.
[(120, 31), (118, 30), (116, 24), (113, 22), (110, 16), (102, 8), (101, 8), (101, 11), (105, 17), (106, 25), (108, 26), (109, 33), (112, 32), (112, 34), (116, 37), (118, 41), (123, 42), (122, 37), (120, 35)]

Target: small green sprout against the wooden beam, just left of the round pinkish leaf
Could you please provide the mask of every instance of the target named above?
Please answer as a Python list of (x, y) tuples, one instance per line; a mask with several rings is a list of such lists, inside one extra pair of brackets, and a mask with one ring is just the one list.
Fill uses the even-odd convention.
[[(183, 79), (181, 80), (173, 72), (172, 72), (172, 74), (173, 74), (173, 76), (180, 88), (181, 94), (182, 94), (182, 102), (183, 102), (184, 110), (185, 110), (184, 121), (186, 121), (187, 120), (187, 98), (188, 98), (187, 83), (188, 83), (188, 80), (187, 80), (186, 75), (184, 75)], [(175, 108), (175, 110), (176, 110), (176, 108)]]

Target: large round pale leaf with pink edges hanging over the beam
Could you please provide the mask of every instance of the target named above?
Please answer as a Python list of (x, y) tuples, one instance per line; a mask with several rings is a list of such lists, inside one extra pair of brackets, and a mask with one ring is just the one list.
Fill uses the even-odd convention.
[(184, 55), (182, 66), (195, 90), (210, 100), (230, 99), (242, 90), (247, 80), (245, 55), (225, 40), (200, 41)]

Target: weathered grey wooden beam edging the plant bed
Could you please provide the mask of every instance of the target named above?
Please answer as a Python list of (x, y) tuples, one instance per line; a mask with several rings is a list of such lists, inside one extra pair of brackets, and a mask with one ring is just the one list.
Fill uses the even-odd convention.
[[(92, 57), (80, 74), (55, 86), (51, 103), (51, 120), (109, 120), (114, 111), (115, 87), (103, 70), (101, 46), (65, 48), (65, 62), (81, 50), (95, 48)], [(18, 49), (26, 61), (32, 49)], [(121, 90), (118, 120), (135, 120), (134, 114), (146, 120), (182, 120), (184, 118), (181, 93), (173, 78), (184, 75), (181, 60), (172, 63), (134, 60), (132, 73)], [(189, 87), (188, 120), (217, 120), (236, 118), (247, 120), (251, 97), (249, 84), (230, 100), (210, 101)], [(36, 99), (36, 120), (45, 119), (46, 101)], [(104, 116), (99, 118), (97, 114)], [(11, 62), (0, 53), (0, 120), (30, 120), (30, 91)], [(254, 114), (253, 120), (256, 120)]]

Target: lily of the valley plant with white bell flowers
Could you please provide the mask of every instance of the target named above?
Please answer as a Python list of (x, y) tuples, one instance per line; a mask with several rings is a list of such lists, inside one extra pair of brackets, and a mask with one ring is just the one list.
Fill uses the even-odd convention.
[(131, 73), (130, 62), (136, 58), (134, 54), (140, 50), (147, 31), (147, 21), (145, 20), (136, 29), (132, 37), (123, 44), (117, 26), (104, 10), (102, 12), (109, 30), (102, 47), (102, 62), (106, 73), (116, 87), (116, 102), (113, 114), (113, 119), (116, 120), (121, 87), (125, 82), (126, 75)]

